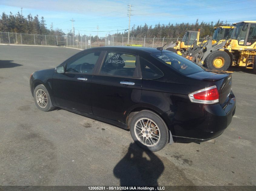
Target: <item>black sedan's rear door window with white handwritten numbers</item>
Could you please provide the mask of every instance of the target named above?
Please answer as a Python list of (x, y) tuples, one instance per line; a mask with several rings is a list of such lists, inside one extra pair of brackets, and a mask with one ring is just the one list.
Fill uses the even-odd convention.
[(101, 67), (101, 75), (133, 77), (136, 56), (125, 53), (109, 52)]

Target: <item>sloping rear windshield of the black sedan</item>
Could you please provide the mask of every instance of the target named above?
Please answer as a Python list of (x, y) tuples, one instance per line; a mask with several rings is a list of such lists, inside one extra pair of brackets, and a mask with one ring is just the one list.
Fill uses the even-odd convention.
[(154, 53), (151, 54), (151, 56), (185, 76), (204, 71), (202, 66), (199, 66), (176, 53)]

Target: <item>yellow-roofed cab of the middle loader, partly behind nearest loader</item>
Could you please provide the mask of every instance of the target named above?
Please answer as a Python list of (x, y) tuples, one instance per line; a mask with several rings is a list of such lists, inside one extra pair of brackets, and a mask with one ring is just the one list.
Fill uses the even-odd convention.
[(233, 28), (233, 26), (214, 27), (214, 32), (212, 35), (212, 40), (214, 40), (213, 43), (216, 43), (223, 39), (230, 39)]

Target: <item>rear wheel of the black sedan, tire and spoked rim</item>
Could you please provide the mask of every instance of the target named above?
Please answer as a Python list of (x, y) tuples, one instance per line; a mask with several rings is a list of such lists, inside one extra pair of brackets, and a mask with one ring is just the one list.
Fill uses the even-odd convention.
[[(143, 121), (144, 125), (140, 123), (140, 119)], [(145, 150), (152, 152), (159, 151), (162, 148), (164, 148), (165, 145), (168, 143), (168, 127), (166, 126), (163, 119), (152, 111), (142, 110), (136, 113), (135, 115), (132, 115), (132, 119), (129, 126), (131, 137), (141, 148)], [(144, 129), (141, 127), (143, 127)], [(145, 143), (142, 143), (144, 142), (144, 140)]]

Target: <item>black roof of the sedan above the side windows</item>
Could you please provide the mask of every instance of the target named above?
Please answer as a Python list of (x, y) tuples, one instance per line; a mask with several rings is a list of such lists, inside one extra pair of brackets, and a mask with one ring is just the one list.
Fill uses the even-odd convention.
[[(90, 48), (86, 49), (85, 51), (97, 51), (97, 50), (106, 50), (106, 51), (128, 51), (128, 52), (134, 52), (134, 53), (161, 53), (160, 50), (156, 48), (150, 48), (150, 47), (138, 47), (138, 46), (101, 46), (101, 47), (96, 47), (96, 48)], [(168, 50), (162, 50), (162, 52), (169, 52)]]

